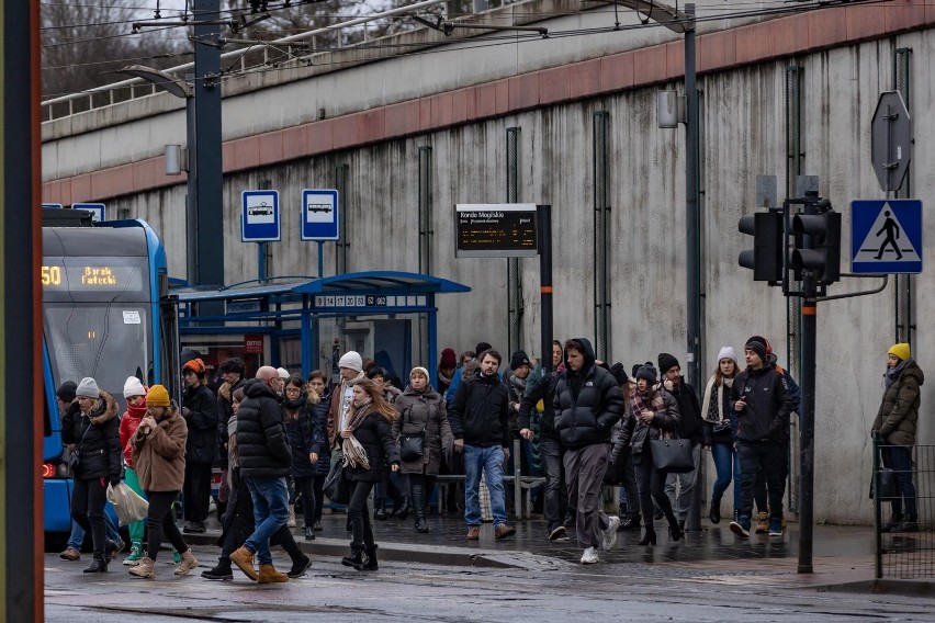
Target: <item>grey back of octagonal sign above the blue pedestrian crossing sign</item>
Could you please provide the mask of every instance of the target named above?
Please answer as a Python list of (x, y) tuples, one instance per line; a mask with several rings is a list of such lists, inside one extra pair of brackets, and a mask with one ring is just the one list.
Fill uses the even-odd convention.
[(898, 191), (912, 160), (912, 118), (899, 91), (880, 93), (870, 122), (870, 157), (880, 188)]

